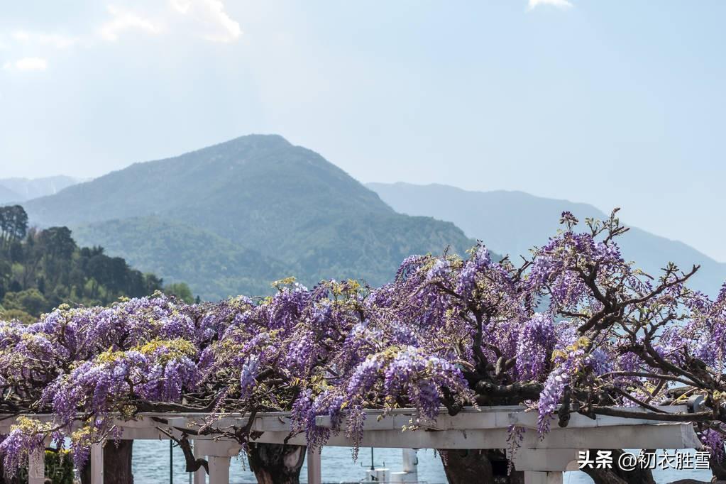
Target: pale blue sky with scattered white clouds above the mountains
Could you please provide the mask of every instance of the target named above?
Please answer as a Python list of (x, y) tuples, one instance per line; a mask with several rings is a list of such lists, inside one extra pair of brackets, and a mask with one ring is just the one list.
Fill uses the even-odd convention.
[(726, 261), (726, 2), (4, 3), (0, 178), (275, 133), (363, 182), (619, 206)]

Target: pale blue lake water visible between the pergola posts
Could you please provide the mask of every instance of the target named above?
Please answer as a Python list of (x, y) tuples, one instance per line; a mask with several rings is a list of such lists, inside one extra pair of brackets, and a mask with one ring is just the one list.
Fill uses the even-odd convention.
[[(418, 451), (418, 479), (428, 484), (446, 484), (444, 467), (438, 454), (433, 450)], [(378, 448), (374, 452), (377, 465), (385, 462), (391, 471), (399, 471), (402, 467), (400, 449)], [(370, 467), (370, 448), (362, 448), (358, 462), (353, 462), (351, 448), (325, 447), (322, 451), (322, 480), (325, 483), (362, 480), (365, 469)], [(134, 483), (163, 484), (168, 483), (169, 476), (169, 444), (163, 440), (136, 440), (134, 442)], [(241, 457), (233, 457), (229, 469), (230, 483), (255, 484), (257, 481), (249, 471), (247, 461)], [(679, 479), (711, 480), (710, 471), (688, 470), (656, 470), (653, 472), (658, 484), (669, 483)], [(303, 465), (301, 481), (306, 482), (307, 467)], [(179, 448), (174, 448), (174, 484), (189, 483), (189, 474), (184, 472), (184, 456)], [(584, 472), (566, 472), (565, 484), (592, 483), (592, 479)]]

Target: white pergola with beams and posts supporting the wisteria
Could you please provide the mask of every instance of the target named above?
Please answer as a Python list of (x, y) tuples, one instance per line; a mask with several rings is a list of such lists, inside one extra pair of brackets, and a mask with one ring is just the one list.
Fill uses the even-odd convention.
[[(668, 412), (688, 412), (688, 406), (663, 406)], [(629, 411), (634, 409), (629, 408)], [(2, 416), (0, 416), (1, 418)], [(52, 421), (49, 414), (28, 414), (26, 417)], [(181, 437), (181, 430), (195, 430), (205, 423), (208, 414), (193, 413), (145, 413), (134, 420), (118, 419), (115, 424), (121, 429), (121, 438), (169, 439), (160, 431)], [(17, 417), (16, 417), (17, 418)], [(158, 422), (166, 420), (166, 424)], [(211, 425), (212, 428), (245, 427), (248, 415), (224, 414)], [(650, 419), (632, 419), (598, 416), (590, 419), (572, 414), (568, 426), (558, 427), (552, 419), (552, 430), (541, 438), (537, 432), (537, 413), (524, 411), (521, 406), (495, 406), (480, 409), (466, 408), (454, 417), (444, 409), (429, 424), (418, 424), (417, 430), (401, 431), (416, 422), (415, 409), (397, 409), (383, 416), (383, 411), (367, 411), (364, 422), (362, 447), (378, 448), (440, 448), (440, 449), (505, 449), (508, 447), (508, 428), (511, 425), (523, 427), (521, 447), (511, 456), (515, 468), (524, 472), (526, 484), (561, 484), (563, 472), (577, 470), (578, 451), (590, 448), (701, 448), (701, 442), (690, 423), (666, 423)], [(7, 434), (15, 418), (0, 420), (0, 434)], [(317, 417), (320, 427), (332, 427), (330, 417)], [(345, 417), (341, 428), (346, 428)], [(257, 414), (251, 430), (260, 443), (289, 443), (306, 445), (305, 435), (290, 437), (290, 413), (274, 412)], [(240, 453), (240, 444), (235, 440), (214, 435), (189, 435), (193, 440), (195, 456), (206, 456), (209, 463), (209, 484), (229, 484), (229, 462)], [(285, 439), (287, 441), (285, 442)], [(326, 446), (354, 446), (353, 440), (344, 432), (334, 435)], [(103, 443), (91, 448), (91, 483), (103, 484)], [(321, 462), (319, 451), (307, 451), (308, 483), (320, 484)], [(44, 454), (40, 451), (30, 456), (28, 462), (28, 484), (44, 483)], [(205, 484), (204, 469), (195, 472), (195, 484)]]

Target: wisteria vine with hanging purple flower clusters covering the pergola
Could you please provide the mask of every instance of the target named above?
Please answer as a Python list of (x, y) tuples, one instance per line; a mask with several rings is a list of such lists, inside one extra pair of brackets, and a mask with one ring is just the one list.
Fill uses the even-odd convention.
[[(433, 420), (501, 404), (537, 411), (542, 434), (573, 413), (693, 422), (723, 459), (726, 286), (711, 299), (688, 289), (696, 267), (651, 275), (625, 261), (616, 212), (583, 231), (571, 213), (560, 223), (518, 265), (478, 244), (466, 258), (409, 257), (376, 288), (286, 279), (256, 300), (157, 294), (1, 322), (0, 414), (25, 415), (0, 443), (4, 467), (65, 438), (81, 466), (114, 419), (144, 411), (290, 411), (291, 434), (322, 446), (337, 432), (358, 441), (366, 409)], [(702, 411), (658, 411), (691, 395)], [(322, 415), (333, 428), (317, 427)]]

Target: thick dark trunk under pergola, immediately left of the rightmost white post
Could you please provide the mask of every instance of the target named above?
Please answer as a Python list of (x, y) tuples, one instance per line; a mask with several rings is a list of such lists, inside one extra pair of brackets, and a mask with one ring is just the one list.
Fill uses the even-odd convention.
[(449, 484), (522, 484), (523, 472), (507, 474), (507, 458), (503, 451), (482, 449), (439, 449)]

